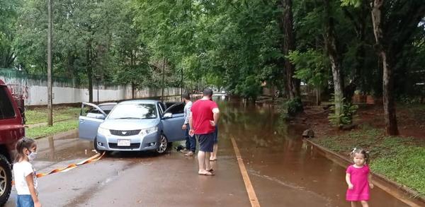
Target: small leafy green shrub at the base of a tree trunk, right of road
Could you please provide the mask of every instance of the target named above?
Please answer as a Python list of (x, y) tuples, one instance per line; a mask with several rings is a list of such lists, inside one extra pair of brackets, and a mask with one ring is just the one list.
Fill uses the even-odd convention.
[(339, 114), (339, 116), (334, 113), (334, 105), (331, 106), (330, 109), (333, 111), (328, 117), (331, 126), (344, 126), (353, 123), (353, 118), (358, 110), (358, 105), (353, 105), (353, 103), (343, 100), (343, 104), (341, 105), (341, 114)]

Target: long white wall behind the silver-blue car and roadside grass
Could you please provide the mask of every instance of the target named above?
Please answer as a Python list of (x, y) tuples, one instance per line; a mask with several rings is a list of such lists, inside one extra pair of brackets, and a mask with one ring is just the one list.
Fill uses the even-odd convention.
[[(31, 78), (16, 78), (2, 76), (3, 80), (13, 93), (23, 95), (25, 105), (47, 105), (47, 83), (43, 80)], [(54, 82), (53, 84), (53, 104), (88, 102), (89, 90), (77, 87), (75, 84)], [(99, 92), (98, 92), (99, 91)], [(143, 88), (135, 90), (135, 98), (159, 97), (160, 88)], [(97, 96), (99, 94), (99, 97)], [(180, 88), (166, 88), (164, 95), (180, 95)], [(130, 85), (104, 86), (94, 85), (93, 101), (106, 102), (116, 100), (128, 100), (132, 98), (132, 88)]]

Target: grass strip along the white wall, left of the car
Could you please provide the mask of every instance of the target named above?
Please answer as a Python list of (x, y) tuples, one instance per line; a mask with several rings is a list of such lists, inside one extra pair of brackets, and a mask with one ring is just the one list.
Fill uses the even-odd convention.
[[(58, 122), (65, 119), (77, 119), (79, 112), (80, 107), (54, 107), (53, 122)], [(25, 114), (27, 119), (26, 124), (47, 122), (47, 107), (26, 110)]]

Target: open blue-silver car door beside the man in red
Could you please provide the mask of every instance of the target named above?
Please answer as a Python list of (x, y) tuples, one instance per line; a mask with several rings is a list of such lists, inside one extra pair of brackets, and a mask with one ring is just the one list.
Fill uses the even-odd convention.
[(162, 126), (164, 126), (164, 134), (168, 141), (185, 140), (185, 131), (181, 129), (184, 123), (184, 103), (176, 102), (168, 107), (162, 114)]

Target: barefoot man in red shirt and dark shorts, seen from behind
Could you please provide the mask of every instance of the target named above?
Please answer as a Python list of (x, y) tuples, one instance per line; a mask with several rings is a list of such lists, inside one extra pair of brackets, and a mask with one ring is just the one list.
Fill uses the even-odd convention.
[(217, 126), (220, 110), (217, 104), (211, 100), (212, 90), (207, 88), (203, 91), (203, 98), (193, 103), (189, 134), (196, 135), (199, 141), (199, 175), (214, 175), (210, 165), (210, 155), (214, 147), (214, 131)]

